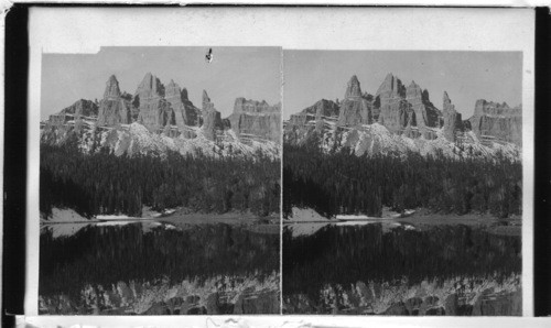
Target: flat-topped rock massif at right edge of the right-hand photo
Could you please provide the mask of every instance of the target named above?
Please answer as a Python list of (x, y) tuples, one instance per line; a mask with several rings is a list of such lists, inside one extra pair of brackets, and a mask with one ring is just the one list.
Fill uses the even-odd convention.
[(471, 121), (473, 132), (482, 140), (512, 142), (522, 144), (522, 108), (509, 107), (479, 99)]

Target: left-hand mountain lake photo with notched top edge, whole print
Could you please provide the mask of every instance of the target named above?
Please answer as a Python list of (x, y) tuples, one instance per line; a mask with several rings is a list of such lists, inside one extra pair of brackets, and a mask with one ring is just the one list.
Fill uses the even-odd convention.
[(42, 55), (40, 314), (280, 313), (280, 47)]

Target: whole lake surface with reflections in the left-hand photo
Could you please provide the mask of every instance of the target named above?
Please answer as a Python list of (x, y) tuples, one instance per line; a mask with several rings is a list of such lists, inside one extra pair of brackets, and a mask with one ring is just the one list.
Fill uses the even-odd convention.
[(43, 227), (40, 313), (280, 313), (280, 236), (252, 228), (151, 221)]

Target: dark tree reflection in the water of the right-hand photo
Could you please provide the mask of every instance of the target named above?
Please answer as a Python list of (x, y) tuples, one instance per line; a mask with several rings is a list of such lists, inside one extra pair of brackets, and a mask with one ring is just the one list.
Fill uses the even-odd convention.
[(410, 285), (429, 278), (509, 276), (521, 270), (520, 238), (490, 234), (466, 226), (428, 231), (380, 225), (326, 227), (310, 237), (283, 234), (283, 293), (316, 299), (324, 284), (389, 282)]

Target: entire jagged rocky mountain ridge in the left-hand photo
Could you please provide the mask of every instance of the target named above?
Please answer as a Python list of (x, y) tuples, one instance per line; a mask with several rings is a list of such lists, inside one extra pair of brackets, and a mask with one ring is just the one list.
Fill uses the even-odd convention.
[[(127, 139), (129, 144), (125, 144), (126, 141), (117, 142), (117, 140), (125, 131), (140, 130), (137, 125), (152, 135), (162, 133), (170, 138), (196, 139), (204, 134), (222, 149), (224, 149), (224, 144), (220, 144), (223, 142), (239, 143), (245, 139), (248, 141), (256, 139), (266, 145), (267, 141), (280, 142), (281, 105), (270, 106), (266, 101), (237, 98), (234, 113), (223, 120), (206, 91), (203, 92), (199, 109), (188, 99), (187, 90), (181, 88), (174, 80), (165, 86), (158, 77), (148, 73), (136, 92), (130, 95), (121, 91), (114, 75), (107, 80), (104, 98), (99, 103), (97, 100), (93, 102), (80, 99), (41, 122), (41, 140), (60, 143), (69, 134), (85, 138), (84, 134), (88, 133), (86, 139), (90, 142), (86, 141), (86, 145), (83, 146), (88, 150), (95, 149), (96, 134), (105, 132), (120, 145), (118, 149), (128, 149), (131, 144), (136, 145), (136, 142), (130, 143)], [(230, 129), (235, 134), (233, 131), (227, 131)], [(139, 134), (143, 134), (143, 131)], [(244, 138), (236, 138), (236, 134)], [(245, 153), (246, 150), (241, 146), (242, 144), (235, 149)], [(256, 149), (261, 145), (249, 143), (247, 146)], [(274, 145), (270, 143), (267, 150), (271, 151)]]

